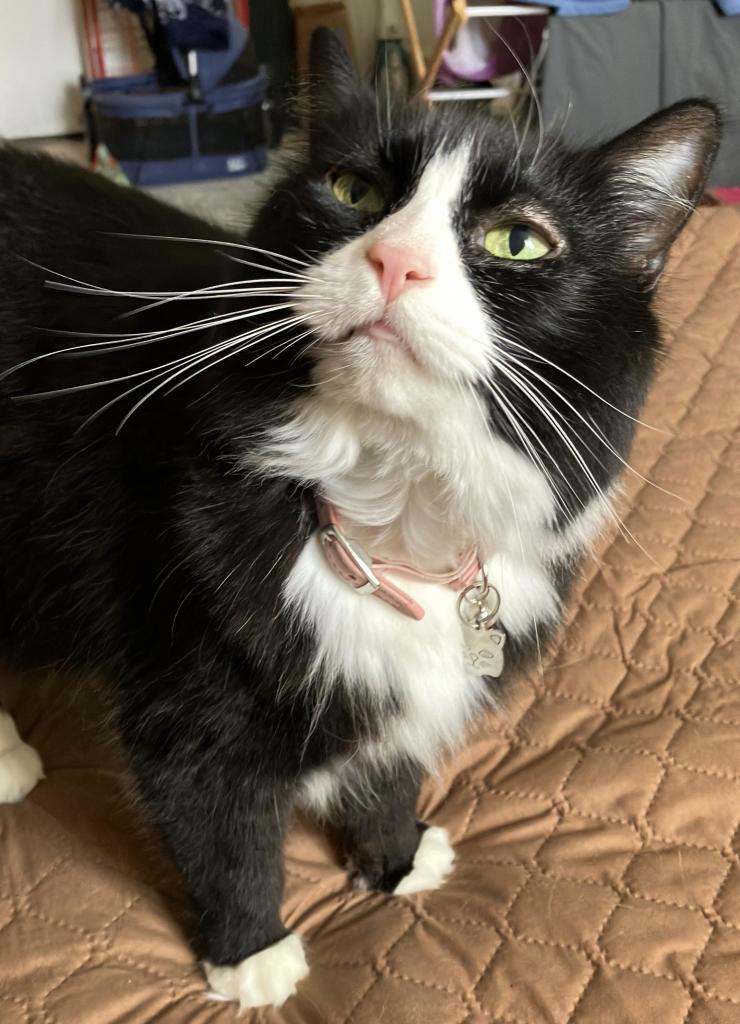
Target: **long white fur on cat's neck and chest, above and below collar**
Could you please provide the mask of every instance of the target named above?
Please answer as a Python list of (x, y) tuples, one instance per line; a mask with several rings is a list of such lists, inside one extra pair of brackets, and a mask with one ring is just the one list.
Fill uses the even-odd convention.
[[(391, 443), (383, 437), (386, 421), (359, 421), (356, 410), (350, 414), (314, 400), (274, 437), (271, 468), (288, 472), (290, 465), (305, 478), (302, 459), (310, 460), (322, 493), (342, 511), (347, 534), (375, 555), (439, 570), (453, 564), (451, 552), (475, 546), (502, 597), (500, 625), (510, 637), (532, 635), (534, 624), (560, 613), (554, 563), (580, 553), (603, 521), (603, 503), (589, 506), (566, 532), (556, 531), (545, 477), (507, 442), (474, 433), (473, 423), (469, 414), (462, 428), (469, 445), (455, 443), (451, 427), (447, 445), (403, 436), (394, 426)], [(330, 427), (323, 441), (321, 430)], [(372, 442), (363, 444), (360, 438), (368, 437)], [(430, 451), (450, 450), (453, 466), (430, 461)], [(321, 452), (325, 465), (317, 465)], [(442, 564), (430, 560), (435, 548)], [(432, 769), (445, 749), (461, 742), (486, 699), (483, 681), (465, 664), (455, 592), (400, 577), (395, 582), (424, 607), (421, 622), (356, 594), (330, 568), (315, 537), (286, 583), (289, 606), (314, 638), (306, 685), (317, 706), (342, 686), (350, 697), (385, 708), (381, 738), (354, 755), (352, 770), (338, 772), (335, 765), (306, 779), (304, 799), (314, 808), (325, 809), (340, 775), (343, 784), (352, 784), (363, 760), (378, 764), (406, 756)], [(399, 708), (391, 717), (389, 698)]]

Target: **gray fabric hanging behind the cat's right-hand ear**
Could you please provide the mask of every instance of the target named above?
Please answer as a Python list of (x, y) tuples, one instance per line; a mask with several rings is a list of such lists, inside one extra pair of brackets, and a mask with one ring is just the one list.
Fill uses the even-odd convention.
[(709, 0), (639, 0), (616, 14), (551, 17), (540, 98), (566, 139), (606, 138), (689, 96), (726, 115), (710, 183), (740, 185), (740, 15)]

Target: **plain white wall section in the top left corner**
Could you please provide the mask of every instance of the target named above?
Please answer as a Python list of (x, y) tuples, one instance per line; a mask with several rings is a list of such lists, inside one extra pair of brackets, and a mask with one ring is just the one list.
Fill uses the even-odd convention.
[(0, 136), (78, 131), (75, 0), (0, 0)]

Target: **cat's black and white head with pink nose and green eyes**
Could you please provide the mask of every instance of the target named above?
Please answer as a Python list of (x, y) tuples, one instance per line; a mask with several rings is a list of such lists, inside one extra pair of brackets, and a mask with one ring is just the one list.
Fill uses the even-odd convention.
[(328, 32), (311, 72), (305, 159), (256, 237), (307, 261), (296, 305), (320, 388), (418, 422), (475, 394), (494, 434), (608, 482), (658, 351), (651, 293), (717, 146), (715, 108), (678, 103), (577, 151), (469, 105), (389, 106)]

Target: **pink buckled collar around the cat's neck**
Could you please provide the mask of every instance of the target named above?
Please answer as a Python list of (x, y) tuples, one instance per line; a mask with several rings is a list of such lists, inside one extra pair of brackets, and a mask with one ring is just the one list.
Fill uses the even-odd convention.
[(321, 549), (340, 580), (358, 594), (371, 594), (390, 604), (396, 611), (410, 618), (424, 618), (424, 608), (410, 594), (396, 587), (387, 579), (386, 572), (399, 572), (424, 580), (428, 583), (439, 583), (452, 590), (463, 590), (470, 587), (481, 570), (480, 560), (471, 550), (466, 552), (461, 563), (449, 572), (424, 572), (406, 562), (391, 562), (386, 558), (373, 558), (362, 547), (342, 532), (342, 520), (334, 505), (316, 496), (316, 514), (318, 516), (318, 538)]

